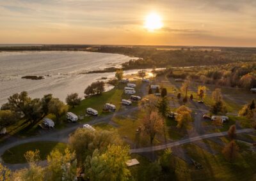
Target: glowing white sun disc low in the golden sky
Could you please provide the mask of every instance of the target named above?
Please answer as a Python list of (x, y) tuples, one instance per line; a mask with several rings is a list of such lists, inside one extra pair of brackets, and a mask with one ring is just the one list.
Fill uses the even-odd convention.
[(163, 23), (161, 17), (157, 13), (150, 13), (145, 19), (145, 28), (148, 31), (154, 31), (156, 29), (161, 29)]

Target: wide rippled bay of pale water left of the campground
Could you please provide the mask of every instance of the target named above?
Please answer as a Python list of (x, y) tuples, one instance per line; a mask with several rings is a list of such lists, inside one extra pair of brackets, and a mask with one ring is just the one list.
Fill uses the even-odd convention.
[[(102, 76), (114, 73), (84, 74), (86, 71), (120, 66), (131, 57), (95, 52), (0, 52), (0, 105), (12, 94), (28, 91), (33, 98), (52, 93), (65, 100), (71, 92), (83, 96), (84, 89)], [(22, 76), (45, 76), (27, 80)]]

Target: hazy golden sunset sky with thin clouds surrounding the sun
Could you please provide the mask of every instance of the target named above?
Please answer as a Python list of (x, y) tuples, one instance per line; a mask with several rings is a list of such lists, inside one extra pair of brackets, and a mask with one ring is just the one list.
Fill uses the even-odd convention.
[(256, 47), (256, 1), (0, 0), (0, 43)]

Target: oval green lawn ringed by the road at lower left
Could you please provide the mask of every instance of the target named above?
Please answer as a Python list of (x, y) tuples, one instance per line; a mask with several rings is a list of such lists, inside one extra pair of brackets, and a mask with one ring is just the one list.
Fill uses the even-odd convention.
[(39, 150), (40, 158), (45, 160), (47, 155), (49, 155), (52, 150), (58, 149), (61, 152), (64, 152), (65, 148), (67, 148), (67, 144), (52, 141), (24, 143), (22, 145), (17, 145), (16, 147), (12, 147), (9, 150), (6, 150), (2, 156), (2, 159), (4, 163), (26, 163), (24, 154), (29, 150)]

